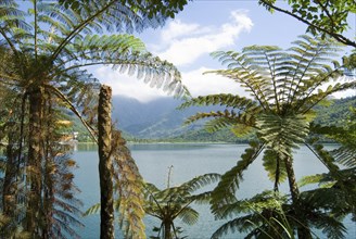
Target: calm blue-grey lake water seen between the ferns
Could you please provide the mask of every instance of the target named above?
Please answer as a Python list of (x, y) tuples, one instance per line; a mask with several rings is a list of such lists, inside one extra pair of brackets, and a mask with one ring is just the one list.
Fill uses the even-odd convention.
[[(168, 167), (174, 166), (171, 185), (179, 185), (196, 175), (206, 173), (224, 173), (236, 165), (239, 155), (243, 153), (245, 144), (132, 144), (131, 153), (138, 167), (147, 181), (153, 183), (158, 188), (165, 188), (167, 181)], [(81, 189), (79, 198), (85, 203), (84, 209), (88, 209), (100, 200), (99, 197), (99, 175), (98, 175), (98, 153), (97, 149), (90, 146), (79, 146), (74, 152), (74, 158), (78, 162), (76, 169), (76, 184)], [(301, 148), (295, 156), (295, 174), (297, 179), (310, 174), (327, 172), (325, 166), (317, 161), (306, 149)], [(244, 183), (238, 192), (238, 198), (249, 198), (264, 189), (272, 189), (272, 184), (268, 180), (260, 160), (252, 164), (244, 174)], [(288, 189), (287, 183), (281, 186), (282, 190)], [(199, 206), (200, 219), (193, 226), (183, 226), (185, 235), (189, 238), (205, 239), (223, 224), (214, 221), (209, 214), (208, 206)], [(99, 215), (91, 215), (84, 219), (86, 227), (80, 230), (84, 239), (99, 238), (100, 222)], [(347, 221), (348, 236), (356, 238), (356, 225)], [(147, 232), (151, 234), (152, 227), (158, 226), (152, 217), (145, 219)], [(179, 225), (179, 224), (178, 224)], [(115, 232), (116, 238), (123, 238), (119, 231)], [(225, 238), (243, 238), (242, 236), (230, 236)]]

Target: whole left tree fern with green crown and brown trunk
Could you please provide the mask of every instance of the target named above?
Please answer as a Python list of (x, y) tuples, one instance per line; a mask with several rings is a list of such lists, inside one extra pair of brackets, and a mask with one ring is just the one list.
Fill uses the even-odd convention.
[[(123, 33), (155, 27), (163, 24), (167, 15), (149, 16), (142, 12), (143, 9), (138, 11), (122, 1), (81, 3), (78, 9), (66, 9), (58, 2), (34, 0), (31, 7), (23, 10), (17, 1), (0, 1), (0, 45), (4, 52), (1, 54), (0, 88), (9, 92), (7, 101), (18, 110), (13, 114), (10, 106), (5, 109), (4, 117), (1, 115), (1, 123), (9, 123), (10, 116), (18, 125), (13, 130), (14, 138), (7, 137), (10, 144), (15, 146), (13, 156), (7, 155), (7, 168), (16, 171), (5, 172), (9, 180), (4, 188), (9, 188), (16, 178), (22, 179), (24, 188), (15, 187), (12, 191), (15, 206), (22, 209), (22, 214), (12, 217), (22, 223), (30, 237), (50, 236), (49, 228), (54, 227), (75, 236), (72, 226), (78, 223), (75, 218), (71, 219), (69, 214), (74, 216), (77, 211), (72, 206), (65, 207), (69, 213), (60, 214), (58, 221), (51, 217), (54, 217), (52, 211), (58, 207), (52, 198), (47, 197), (52, 197), (51, 193), (65, 180), (47, 175), (47, 171), (58, 169), (52, 164), (60, 155), (56, 151), (52, 154), (60, 138), (50, 137), (54, 129), (49, 124), (54, 127), (62, 120), (58, 114), (51, 117), (54, 108), (66, 108), (80, 120), (96, 141), (92, 125), (96, 122), (99, 80), (85, 70), (86, 66), (111, 65), (175, 96), (187, 93), (176, 67), (149, 53), (138, 38), (127, 34), (103, 35), (114, 30)], [(139, 5), (139, 2), (136, 3)], [(64, 175), (69, 177), (66, 173)], [(130, 176), (136, 175), (138, 172)], [(130, 185), (126, 185), (125, 189), (130, 194)], [(24, 197), (23, 192), (28, 197)], [(43, 209), (46, 213), (41, 209), (43, 203), (49, 203), (48, 209)], [(129, 206), (123, 209), (129, 210)], [(59, 210), (56, 212), (60, 213)], [(139, 224), (140, 218), (127, 222), (134, 225), (136, 219)], [(64, 237), (63, 234), (55, 235)]]

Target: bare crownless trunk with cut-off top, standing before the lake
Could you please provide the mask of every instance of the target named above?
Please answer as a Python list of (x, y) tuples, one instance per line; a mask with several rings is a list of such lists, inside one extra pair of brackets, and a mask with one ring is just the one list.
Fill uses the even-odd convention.
[(99, 96), (98, 108), (98, 143), (99, 143), (99, 177), (100, 177), (100, 238), (114, 238), (114, 200), (113, 175), (111, 161), (111, 98), (112, 90), (109, 86), (102, 86)]

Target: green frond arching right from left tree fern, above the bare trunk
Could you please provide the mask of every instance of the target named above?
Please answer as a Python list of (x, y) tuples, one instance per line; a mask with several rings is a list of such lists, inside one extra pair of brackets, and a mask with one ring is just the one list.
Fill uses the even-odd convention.
[(143, 79), (150, 87), (162, 88), (176, 97), (189, 96), (178, 70), (147, 52), (143, 42), (131, 35), (86, 36), (67, 48), (68, 52), (76, 52), (66, 60), (66, 64), (72, 65), (69, 68), (112, 65), (122, 74)]

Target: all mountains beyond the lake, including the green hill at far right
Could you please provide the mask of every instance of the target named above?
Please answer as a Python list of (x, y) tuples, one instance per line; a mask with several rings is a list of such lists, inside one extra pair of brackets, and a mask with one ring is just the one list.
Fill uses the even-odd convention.
[[(176, 108), (181, 101), (173, 98), (160, 98), (142, 103), (132, 98), (113, 97), (113, 121), (123, 131), (139, 139), (170, 139), (173, 141), (244, 141), (237, 139), (228, 129), (214, 134), (204, 130), (204, 122), (183, 126), (183, 122), (198, 112), (223, 110), (220, 106), (189, 108), (182, 111)], [(347, 118), (349, 106), (356, 106), (356, 97), (332, 100), (330, 106), (317, 106), (317, 123), (335, 124)]]

